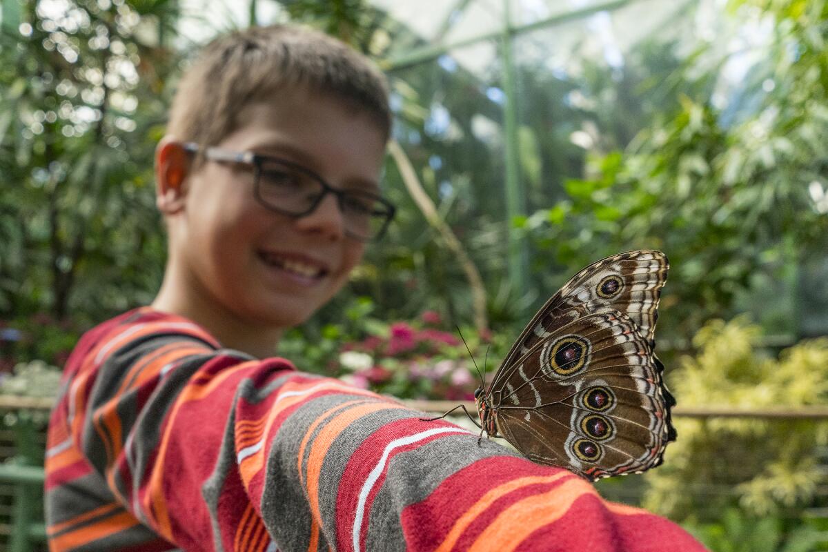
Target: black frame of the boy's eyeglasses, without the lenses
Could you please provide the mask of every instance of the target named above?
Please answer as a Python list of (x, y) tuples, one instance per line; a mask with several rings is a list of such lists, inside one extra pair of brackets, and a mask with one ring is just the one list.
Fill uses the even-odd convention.
[[(250, 165), (253, 166), (253, 195), (258, 200), (260, 204), (262, 204), (267, 209), (270, 209), (278, 214), (284, 214), (289, 217), (293, 218), (301, 218), (308, 214), (311, 214), (315, 211), (317, 207), (319, 207), (320, 203), (322, 203), (322, 199), (325, 199), (327, 194), (334, 194), (336, 196), (336, 202), (339, 205), (339, 211), (344, 214), (344, 200), (353, 197), (354, 192), (349, 190), (337, 190), (320, 176), (317, 175), (313, 170), (308, 169), (305, 166), (298, 165), (292, 161), (287, 161), (282, 159), (281, 157), (276, 156), (262, 156), (258, 153), (253, 153), (253, 151), (230, 151), (225, 150), (224, 148), (215, 147), (215, 146), (201, 146), (200, 144), (196, 144), (195, 142), (185, 142), (183, 144), (185, 151), (190, 151), (190, 153), (197, 153), (201, 152), (205, 159), (209, 161), (219, 161), (219, 162), (228, 162), (228, 163), (239, 163), (241, 165)], [(295, 213), (293, 211), (286, 211), (284, 209), (279, 209), (276, 205), (268, 203), (264, 199), (262, 199), (262, 194), (260, 192), (259, 182), (262, 180), (262, 165), (267, 161), (274, 161), (280, 163), (284, 166), (288, 166), (297, 172), (301, 172), (302, 174), (308, 176), (311, 180), (314, 180), (322, 187), (322, 192), (317, 195), (312, 204), (308, 209), (302, 211), (301, 213)], [(397, 207), (392, 204), (388, 199), (383, 198), (381, 195), (372, 194), (370, 192), (359, 192), (360, 196), (368, 197), (370, 199), (375, 200), (378, 204), (382, 205), (381, 210), (375, 210), (371, 216), (382, 216), (384, 218), (382, 226), (373, 233), (371, 236), (362, 236), (356, 233), (351, 232), (348, 228), (345, 228), (345, 234), (349, 238), (354, 238), (355, 240), (359, 240), (360, 242), (370, 242), (378, 240), (379, 238), (383, 237), (383, 234), (388, 229), (388, 224), (391, 223), (392, 219), (394, 218), (394, 214), (397, 212)]]

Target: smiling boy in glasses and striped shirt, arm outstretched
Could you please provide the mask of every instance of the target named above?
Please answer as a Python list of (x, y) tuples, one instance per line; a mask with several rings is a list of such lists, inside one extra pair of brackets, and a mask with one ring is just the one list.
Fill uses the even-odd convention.
[(51, 550), (703, 550), (271, 358), (392, 218), (386, 94), (359, 55), (284, 26), (214, 41), (185, 75), (156, 153), (161, 290), (84, 335), (51, 418)]

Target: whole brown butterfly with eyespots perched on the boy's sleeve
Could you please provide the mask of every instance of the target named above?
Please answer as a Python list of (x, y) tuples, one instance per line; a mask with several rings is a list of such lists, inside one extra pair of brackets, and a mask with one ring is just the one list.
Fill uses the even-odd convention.
[(567, 281), (523, 329), (489, 388), (474, 392), (481, 439), (502, 437), (534, 462), (590, 481), (662, 463), (676, 439), (676, 401), (653, 352), (668, 269), (662, 252), (631, 251)]

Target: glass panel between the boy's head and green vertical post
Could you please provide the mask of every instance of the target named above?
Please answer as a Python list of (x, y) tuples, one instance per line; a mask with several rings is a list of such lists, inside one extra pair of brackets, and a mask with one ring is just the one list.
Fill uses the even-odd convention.
[[(411, 161), (428, 197), (474, 258), (484, 280), (496, 286), (505, 274), (503, 191), (503, 91), (491, 60), (496, 45), (483, 42), (436, 60), (393, 70), (394, 137)], [(482, 75), (482, 76), (481, 76)], [(417, 314), (448, 305), (469, 319), (469, 285), (460, 262), (430, 228), (412, 200), (396, 163), (389, 159), (384, 194), (400, 209), (381, 247), (368, 249), (367, 271), (383, 271), (411, 293), (372, 290), (383, 309)], [(411, 252), (420, 252), (411, 255)], [(399, 255), (399, 257), (397, 257)], [(372, 268), (375, 267), (375, 268)], [(422, 295), (417, 290), (431, 290)], [(407, 300), (410, 305), (388, 305)]]

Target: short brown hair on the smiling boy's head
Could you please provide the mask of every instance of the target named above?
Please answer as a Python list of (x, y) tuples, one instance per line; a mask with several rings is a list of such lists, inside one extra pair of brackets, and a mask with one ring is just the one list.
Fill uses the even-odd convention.
[(286, 25), (250, 27), (205, 46), (181, 78), (167, 132), (214, 146), (233, 132), (244, 106), (302, 85), (363, 109), (388, 139), (391, 113), (383, 74), (335, 38)]

